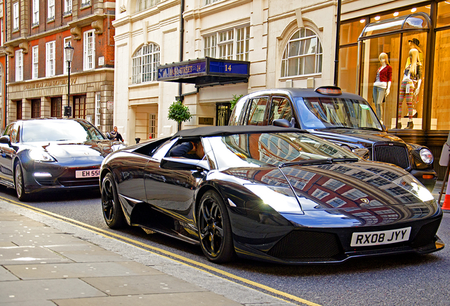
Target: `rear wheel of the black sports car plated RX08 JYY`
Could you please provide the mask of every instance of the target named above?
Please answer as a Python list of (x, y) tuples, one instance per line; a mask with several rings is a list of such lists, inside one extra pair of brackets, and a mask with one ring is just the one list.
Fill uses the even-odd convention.
[(120, 207), (119, 196), (113, 174), (106, 174), (102, 181), (101, 188), (102, 209), (105, 222), (111, 229), (118, 229), (125, 225), (125, 216), (122, 207)]

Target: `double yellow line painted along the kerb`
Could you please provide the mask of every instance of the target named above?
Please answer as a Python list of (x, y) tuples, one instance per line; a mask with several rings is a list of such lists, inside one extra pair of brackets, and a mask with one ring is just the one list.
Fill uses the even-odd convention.
[[(71, 219), (71, 218), (68, 218), (68, 217), (64, 217), (62, 215), (57, 215), (57, 214), (55, 214), (53, 212), (49, 212), (47, 210), (42, 210), (40, 208), (35, 208), (33, 206), (26, 205), (24, 203), (16, 202), (16, 201), (8, 199), (8, 198), (4, 198), (4, 197), (0, 196), (0, 199), (6, 201), (8, 203), (21, 206), (23, 208), (28, 208), (29, 210), (33, 210), (33, 211), (38, 212), (38, 213), (40, 213), (42, 215), (47, 215), (47, 216), (52, 217), (52, 218), (57, 219), (57, 220), (67, 221), (67, 222), (71, 223), (72, 225), (75, 225), (76, 227), (80, 227), (82, 229), (86, 229), (89, 232), (100, 234), (100, 236), (103, 236), (105, 238), (116, 239), (117, 241), (125, 242), (127, 244), (132, 245), (132, 246), (142, 246), (142, 249), (144, 249), (144, 251), (148, 251), (151, 254), (156, 254), (156, 255), (159, 255), (159, 256), (163, 256), (163, 257), (165, 257), (167, 259), (171, 259), (171, 260), (177, 261), (178, 263), (181, 263), (181, 264), (183, 264), (185, 266), (190, 266), (191, 268), (196, 268), (197, 270), (210, 273), (210, 274), (212, 274), (214, 276), (218, 276), (218, 277), (224, 276), (224, 277), (221, 277), (221, 278), (228, 279), (228, 280), (229, 279), (238, 280), (239, 282), (246, 283), (248, 285), (253, 286), (254, 288), (259, 288), (261, 290), (265, 290), (265, 291), (267, 291), (269, 293), (272, 293), (273, 294), (272, 296), (276, 297), (279, 300), (283, 300), (280, 297), (285, 297), (285, 298), (290, 300), (290, 301), (289, 300), (283, 300), (284, 302), (295, 301), (295, 302), (299, 302), (301, 304), (308, 305), (308, 306), (321, 306), (319, 304), (316, 304), (315, 302), (310, 302), (310, 301), (304, 300), (304, 299), (302, 299), (300, 297), (296, 297), (295, 295), (291, 295), (289, 293), (284, 293), (284, 292), (276, 290), (274, 288), (270, 288), (267, 285), (262, 285), (260, 283), (255, 283), (252, 280), (248, 280), (246, 278), (241, 278), (240, 276), (236, 276), (234, 274), (228, 273), (228, 272), (220, 270), (218, 268), (214, 268), (212, 266), (208, 266), (207, 264), (204, 264), (204, 263), (201, 263), (201, 262), (198, 262), (198, 261), (194, 261), (192, 259), (188, 259), (188, 258), (186, 258), (184, 256), (180, 256), (178, 254), (174, 254), (174, 253), (172, 253), (170, 251), (166, 251), (164, 249), (160, 249), (160, 248), (157, 248), (155, 246), (151, 246), (149, 244), (144, 244), (144, 243), (139, 242), (137, 240), (130, 239), (128, 237), (124, 237), (124, 236), (122, 236), (120, 234), (115, 234), (114, 232), (108, 232), (108, 231), (105, 231), (104, 229), (100, 229), (98, 227), (93, 227), (92, 225), (87, 225), (86, 223), (79, 222), (77, 220), (74, 220), (74, 219)], [(150, 251), (150, 250), (153, 250), (153, 251)], [(162, 254), (164, 254), (164, 255), (162, 255)], [(188, 263), (190, 263), (190, 264), (188, 264)], [(214, 273), (212, 273), (212, 272), (214, 272)]]

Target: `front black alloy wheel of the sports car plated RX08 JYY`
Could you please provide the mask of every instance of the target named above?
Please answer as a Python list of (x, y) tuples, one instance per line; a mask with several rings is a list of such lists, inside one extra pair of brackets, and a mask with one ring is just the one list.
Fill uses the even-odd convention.
[(234, 256), (230, 217), (224, 201), (215, 191), (202, 196), (197, 214), (202, 251), (209, 261), (224, 263)]

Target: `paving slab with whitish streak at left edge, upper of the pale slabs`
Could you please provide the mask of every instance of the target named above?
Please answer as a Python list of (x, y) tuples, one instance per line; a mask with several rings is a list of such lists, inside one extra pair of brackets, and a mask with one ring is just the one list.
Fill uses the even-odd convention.
[(2, 246), (0, 264), (60, 263), (69, 262), (64, 256), (47, 249), (45, 246)]

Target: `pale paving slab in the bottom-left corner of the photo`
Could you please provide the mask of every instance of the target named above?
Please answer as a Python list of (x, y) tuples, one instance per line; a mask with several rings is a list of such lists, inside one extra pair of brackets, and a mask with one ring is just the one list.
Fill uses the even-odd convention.
[(77, 278), (18, 280), (0, 283), (0, 303), (106, 296)]

